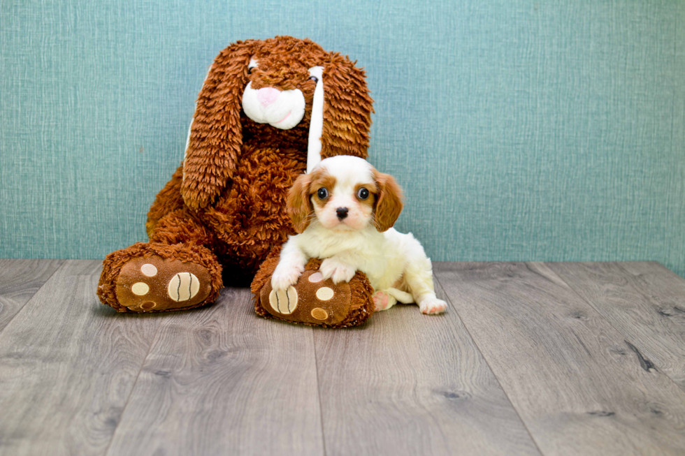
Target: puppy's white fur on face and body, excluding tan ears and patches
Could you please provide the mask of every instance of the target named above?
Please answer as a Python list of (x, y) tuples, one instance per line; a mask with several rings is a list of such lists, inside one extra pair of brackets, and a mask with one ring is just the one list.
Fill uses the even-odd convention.
[[(373, 182), (373, 167), (352, 156), (331, 157), (319, 167), (336, 177), (336, 186), (328, 189), (331, 200), (320, 209), (314, 205), (316, 218), (303, 233), (289, 237), (271, 286), (283, 290), (296, 284), (309, 258), (321, 258), (319, 271), (335, 284), (349, 281), (357, 270), (364, 272), (376, 291), (377, 310), (399, 301), (416, 302), (424, 314), (445, 311), (447, 303), (435, 296), (431, 260), (419, 241), (394, 228), (380, 233), (368, 205), (356, 200), (354, 187)], [(345, 219), (337, 218), (337, 207), (349, 209)]]

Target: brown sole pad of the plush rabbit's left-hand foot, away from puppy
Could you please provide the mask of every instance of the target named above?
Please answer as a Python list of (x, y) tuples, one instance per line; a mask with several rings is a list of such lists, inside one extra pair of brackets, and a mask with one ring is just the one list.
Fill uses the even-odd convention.
[(204, 267), (159, 256), (129, 260), (116, 284), (117, 300), (134, 312), (195, 307), (210, 291), (210, 274)]

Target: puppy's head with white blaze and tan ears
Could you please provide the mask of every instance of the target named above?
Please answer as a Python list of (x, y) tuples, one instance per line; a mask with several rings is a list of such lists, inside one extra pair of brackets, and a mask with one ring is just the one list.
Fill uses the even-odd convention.
[(330, 230), (391, 228), (402, 212), (402, 190), (391, 175), (354, 156), (325, 159), (295, 181), (288, 212), (302, 233), (312, 219)]

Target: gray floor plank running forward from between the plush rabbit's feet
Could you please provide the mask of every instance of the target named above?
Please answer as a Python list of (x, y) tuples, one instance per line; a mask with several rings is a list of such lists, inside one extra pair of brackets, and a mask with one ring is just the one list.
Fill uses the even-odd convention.
[(166, 318), (108, 455), (322, 455), (312, 328), (247, 288)]

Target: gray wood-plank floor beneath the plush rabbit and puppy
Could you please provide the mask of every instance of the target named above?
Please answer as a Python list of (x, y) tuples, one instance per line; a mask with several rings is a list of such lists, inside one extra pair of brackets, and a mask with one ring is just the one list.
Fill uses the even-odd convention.
[(1, 455), (684, 455), (685, 280), (435, 263), (447, 314), (264, 320), (245, 288), (100, 304), (99, 261), (0, 260)]

